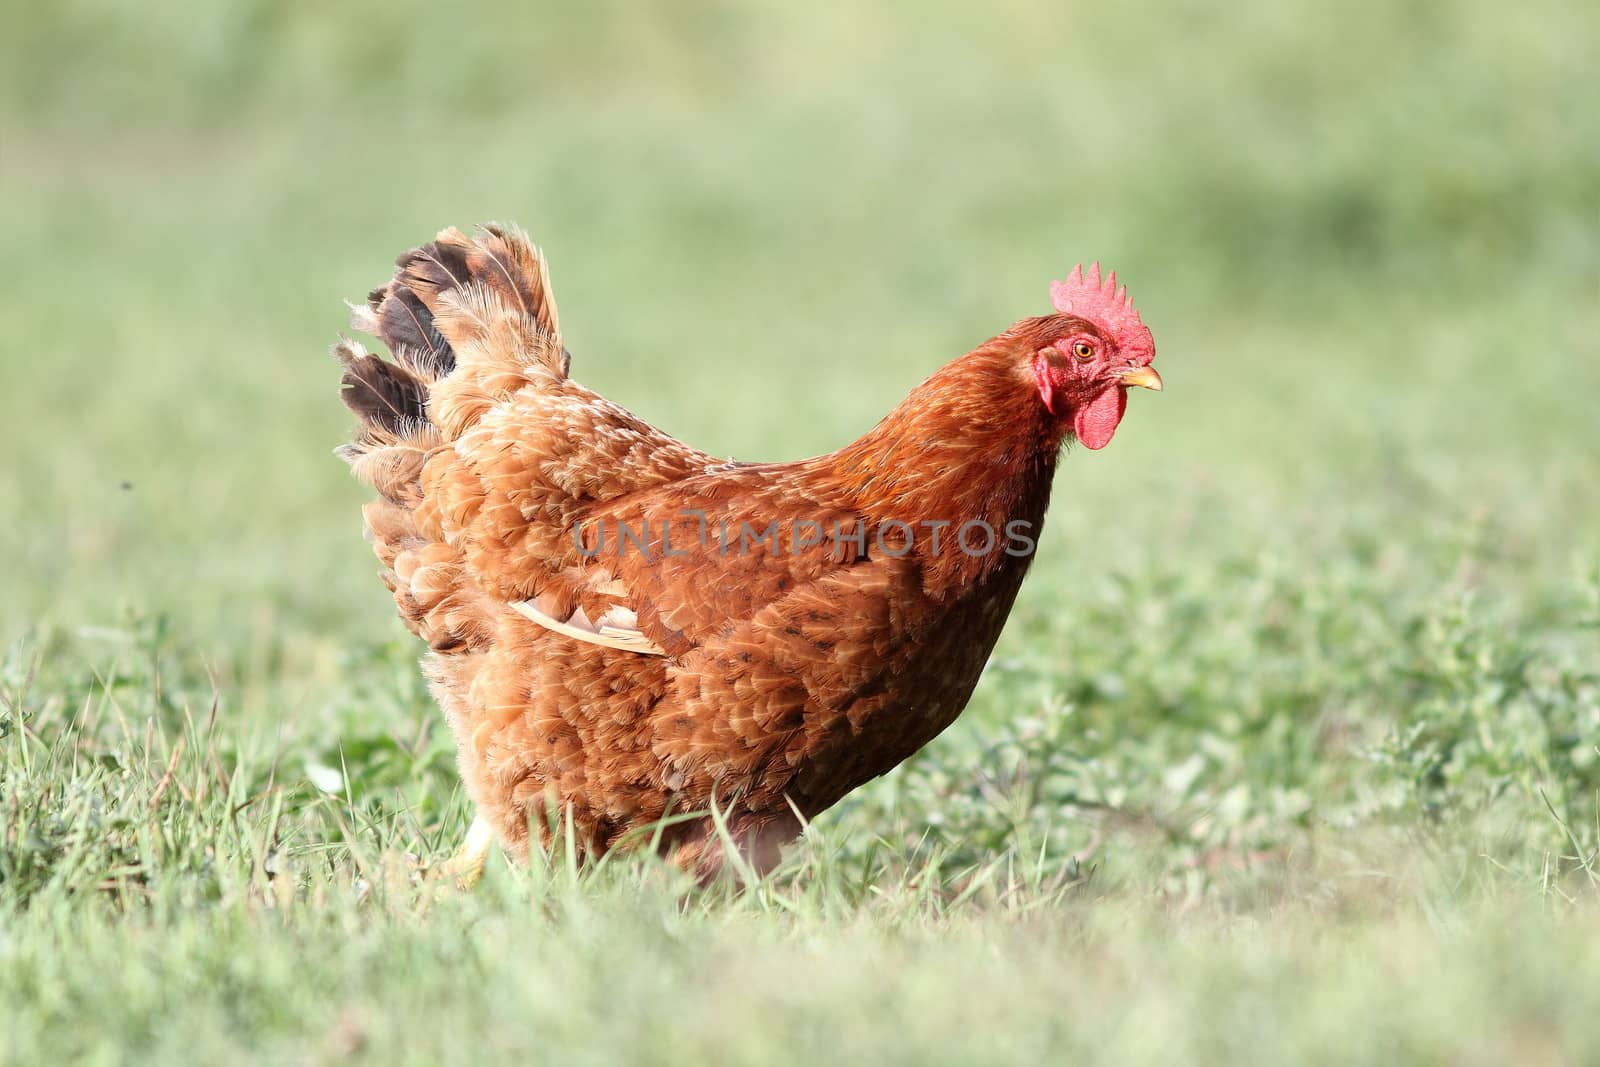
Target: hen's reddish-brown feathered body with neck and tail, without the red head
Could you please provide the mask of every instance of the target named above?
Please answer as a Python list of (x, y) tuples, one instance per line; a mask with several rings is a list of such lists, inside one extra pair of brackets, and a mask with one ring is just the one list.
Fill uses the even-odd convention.
[[(403, 256), (355, 315), (397, 363), (338, 349), (365, 426), (346, 458), (382, 496), (371, 537), (480, 819), (514, 853), (554, 824), (600, 853), (715, 805), (766, 867), (797, 816), (942, 731), (1027, 569), (1002, 531), (1038, 536), (1066, 434), (1016, 403), (1043, 322), (838, 453), (731, 464), (566, 378), (518, 234)], [(998, 534), (986, 552), (955, 542), (974, 522)], [(677, 862), (720, 865), (704, 814), (656, 832)]]

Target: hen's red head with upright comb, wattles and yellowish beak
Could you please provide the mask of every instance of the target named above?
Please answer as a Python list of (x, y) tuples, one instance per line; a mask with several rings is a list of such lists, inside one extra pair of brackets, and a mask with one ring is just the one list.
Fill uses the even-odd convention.
[(1034, 381), (1038, 398), (1085, 448), (1106, 448), (1128, 406), (1128, 387), (1160, 389), (1150, 366), (1155, 339), (1133, 310), (1117, 274), (1101, 278), (1099, 264), (1074, 267), (1050, 286), (1056, 315), (1037, 320)]

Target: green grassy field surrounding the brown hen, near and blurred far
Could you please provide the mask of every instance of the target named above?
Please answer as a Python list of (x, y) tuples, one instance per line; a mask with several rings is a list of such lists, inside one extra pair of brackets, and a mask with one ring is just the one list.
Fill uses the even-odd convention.
[[(1584, 5), (24, 8), (0, 1062), (1595, 1057)], [(490, 218), (739, 458), (1078, 259), (1155, 331), (968, 712), (758, 886), (413, 877), (469, 811), (323, 350)]]

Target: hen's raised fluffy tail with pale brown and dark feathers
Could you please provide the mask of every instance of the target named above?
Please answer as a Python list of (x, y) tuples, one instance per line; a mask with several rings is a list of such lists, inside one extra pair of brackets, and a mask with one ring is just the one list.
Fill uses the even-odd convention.
[(352, 328), (394, 358), (350, 339), (333, 349), (344, 366), (341, 397), (360, 421), (355, 440), (336, 451), (378, 490), (363, 514), (406, 625), (434, 651), (480, 649), (499, 608), (448, 544), (426, 469), (496, 402), (533, 381), (565, 379), (570, 355), (544, 256), (520, 230), (448, 229), (397, 267), (350, 309)]

